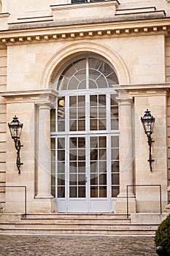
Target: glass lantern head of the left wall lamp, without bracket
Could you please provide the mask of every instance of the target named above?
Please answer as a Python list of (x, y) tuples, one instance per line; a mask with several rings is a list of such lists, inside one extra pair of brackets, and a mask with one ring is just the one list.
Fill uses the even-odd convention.
[(20, 123), (18, 120), (18, 117), (13, 117), (13, 120), (10, 124), (8, 124), (10, 132), (11, 132), (11, 137), (13, 140), (18, 140), (20, 138), (20, 133), (23, 129), (23, 124)]

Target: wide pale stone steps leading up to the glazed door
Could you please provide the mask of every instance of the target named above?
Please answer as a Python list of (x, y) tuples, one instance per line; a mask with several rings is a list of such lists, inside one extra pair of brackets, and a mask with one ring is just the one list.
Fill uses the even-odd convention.
[(1, 214), (0, 233), (154, 236), (158, 223), (132, 223), (123, 214)]

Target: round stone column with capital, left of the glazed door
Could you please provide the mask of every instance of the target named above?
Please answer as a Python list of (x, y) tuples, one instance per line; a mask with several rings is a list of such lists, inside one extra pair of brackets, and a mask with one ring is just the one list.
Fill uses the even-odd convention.
[(37, 195), (36, 198), (53, 198), (51, 195), (50, 108), (54, 101), (43, 94), (38, 106)]

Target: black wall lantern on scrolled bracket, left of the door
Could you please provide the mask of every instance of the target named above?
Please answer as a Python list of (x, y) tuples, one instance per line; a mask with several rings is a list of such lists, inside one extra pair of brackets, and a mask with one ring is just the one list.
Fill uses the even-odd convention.
[(20, 145), (20, 134), (23, 129), (23, 124), (20, 124), (20, 121), (18, 120), (18, 117), (13, 117), (13, 120), (10, 124), (8, 124), (11, 137), (14, 140), (15, 148), (17, 150), (17, 167), (18, 167), (18, 173), (20, 174), (20, 165), (23, 165), (23, 162), (20, 162), (20, 147), (23, 147), (23, 145)]

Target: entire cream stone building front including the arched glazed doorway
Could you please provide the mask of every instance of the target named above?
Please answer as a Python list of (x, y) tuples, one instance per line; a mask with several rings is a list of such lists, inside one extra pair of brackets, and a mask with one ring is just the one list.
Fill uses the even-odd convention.
[[(127, 186), (131, 213), (160, 212), (160, 200), (165, 208), (170, 1), (2, 0), (0, 21), (4, 211), (23, 211), (23, 186), (30, 213), (125, 213)], [(20, 174), (8, 127), (15, 115)]]

